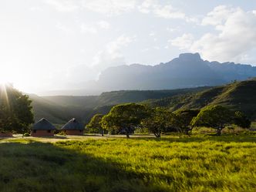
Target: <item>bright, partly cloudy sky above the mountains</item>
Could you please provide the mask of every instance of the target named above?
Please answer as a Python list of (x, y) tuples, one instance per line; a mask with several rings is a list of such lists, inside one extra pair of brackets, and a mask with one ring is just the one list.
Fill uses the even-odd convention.
[(80, 89), (110, 66), (182, 52), (256, 66), (256, 1), (0, 1), (0, 83), (26, 93)]

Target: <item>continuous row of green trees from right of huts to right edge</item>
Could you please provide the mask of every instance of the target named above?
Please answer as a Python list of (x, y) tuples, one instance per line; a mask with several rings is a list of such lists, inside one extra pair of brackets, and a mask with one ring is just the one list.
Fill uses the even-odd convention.
[(206, 126), (214, 128), (217, 135), (221, 135), (224, 127), (229, 125), (249, 128), (251, 121), (240, 111), (232, 111), (224, 106), (206, 106), (200, 110), (185, 109), (173, 113), (161, 107), (127, 103), (113, 106), (106, 115), (93, 116), (86, 125), (86, 131), (102, 135), (123, 133), (129, 138), (135, 130), (147, 130), (160, 137), (172, 131), (190, 135), (194, 127)]

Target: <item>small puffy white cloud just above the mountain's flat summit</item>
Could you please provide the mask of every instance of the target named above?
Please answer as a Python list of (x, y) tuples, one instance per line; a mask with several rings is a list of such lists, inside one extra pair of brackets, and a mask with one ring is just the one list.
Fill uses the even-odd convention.
[(179, 47), (180, 50), (190, 49), (194, 42), (194, 36), (190, 33), (184, 33), (184, 35), (176, 39), (170, 39), (169, 42), (171, 45)]

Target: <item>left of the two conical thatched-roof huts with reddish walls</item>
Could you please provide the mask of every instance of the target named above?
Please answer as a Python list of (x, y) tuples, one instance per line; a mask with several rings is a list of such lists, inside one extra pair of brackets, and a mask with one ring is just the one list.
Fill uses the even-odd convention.
[(56, 127), (42, 118), (32, 126), (31, 136), (54, 136), (54, 130), (56, 130)]

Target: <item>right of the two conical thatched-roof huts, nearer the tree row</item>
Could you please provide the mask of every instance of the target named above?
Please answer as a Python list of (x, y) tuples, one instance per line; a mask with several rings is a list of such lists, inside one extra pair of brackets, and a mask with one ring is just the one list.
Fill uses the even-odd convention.
[(62, 126), (62, 130), (64, 130), (67, 135), (83, 135), (84, 126), (82, 123), (79, 123), (75, 118), (73, 118)]

